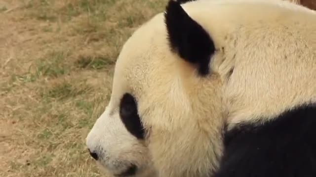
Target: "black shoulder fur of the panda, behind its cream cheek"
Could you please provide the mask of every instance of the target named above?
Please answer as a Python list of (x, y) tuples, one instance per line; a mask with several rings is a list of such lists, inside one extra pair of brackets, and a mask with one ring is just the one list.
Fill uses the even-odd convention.
[(213, 177), (316, 177), (316, 104), (226, 132)]

